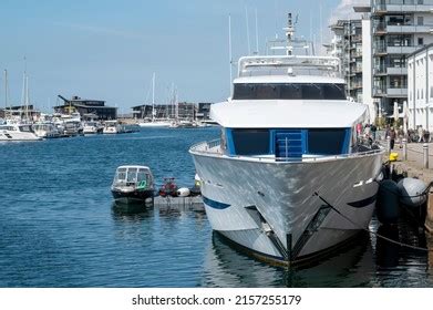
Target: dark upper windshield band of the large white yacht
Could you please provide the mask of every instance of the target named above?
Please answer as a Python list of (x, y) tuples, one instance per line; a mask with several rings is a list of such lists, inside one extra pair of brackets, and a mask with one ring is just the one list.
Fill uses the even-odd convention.
[(234, 100), (346, 100), (344, 84), (236, 83)]

